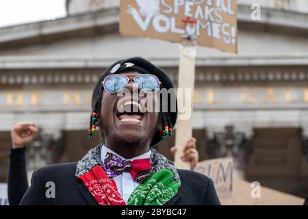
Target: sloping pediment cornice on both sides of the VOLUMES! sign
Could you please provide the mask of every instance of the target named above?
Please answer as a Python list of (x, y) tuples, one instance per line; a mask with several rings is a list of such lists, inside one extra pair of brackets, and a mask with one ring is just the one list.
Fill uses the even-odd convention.
[[(239, 29), (273, 31), (290, 35), (308, 36), (308, 14), (286, 12), (269, 8), (261, 9), (261, 20), (252, 21), (251, 8), (238, 5)], [(35, 44), (63, 37), (84, 36), (93, 33), (118, 31), (119, 9), (75, 14), (54, 21), (42, 21), (0, 28), (0, 49), (16, 47), (16, 44)]]

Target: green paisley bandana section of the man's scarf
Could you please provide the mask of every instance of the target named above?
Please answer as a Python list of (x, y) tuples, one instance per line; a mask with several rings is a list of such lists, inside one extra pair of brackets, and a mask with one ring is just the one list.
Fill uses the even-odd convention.
[(170, 170), (159, 170), (133, 191), (127, 205), (164, 205), (175, 194), (181, 185), (173, 181), (175, 177)]

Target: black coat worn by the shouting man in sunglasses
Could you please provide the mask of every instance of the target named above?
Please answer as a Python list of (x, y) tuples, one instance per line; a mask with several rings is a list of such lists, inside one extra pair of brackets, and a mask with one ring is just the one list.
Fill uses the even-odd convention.
[[(98, 205), (84, 183), (75, 177), (76, 164), (56, 164), (36, 170), (20, 205)], [(190, 170), (178, 172), (179, 192), (166, 205), (220, 205), (211, 179)], [(55, 185), (55, 198), (47, 198), (50, 181)]]

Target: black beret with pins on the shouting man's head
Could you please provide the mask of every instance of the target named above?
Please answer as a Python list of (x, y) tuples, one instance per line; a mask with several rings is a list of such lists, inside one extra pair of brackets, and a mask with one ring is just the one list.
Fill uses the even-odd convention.
[[(164, 72), (164, 70), (158, 68), (148, 60), (144, 60), (144, 58), (142, 57), (131, 57), (127, 60), (120, 60), (112, 64), (109, 68), (107, 68), (107, 70), (105, 70), (105, 72), (102, 73), (101, 76), (99, 77), (99, 80), (97, 81), (92, 94), (92, 111), (94, 111), (96, 108), (95, 103), (97, 100), (97, 96), (101, 91), (101, 83), (103, 82), (105, 77), (112, 74), (127, 73), (132, 71), (138, 72), (140, 74), (155, 75), (156, 77), (158, 77), (159, 81), (162, 82), (162, 88), (166, 88), (167, 90), (169, 90), (170, 88), (175, 88), (170, 77), (168, 77), (168, 75)], [(175, 92), (175, 90), (172, 89), (171, 92)], [(170, 96), (175, 96), (175, 94)], [(176, 108), (175, 112), (171, 112), (170, 103), (172, 101), (170, 101), (170, 96), (168, 96), (168, 112), (166, 113), (169, 114), (170, 122), (172, 123), (172, 127), (174, 127), (177, 121), (177, 106), (175, 107)], [(177, 104), (177, 99), (175, 100), (175, 103)], [(151, 146), (157, 144), (161, 140), (162, 140), (162, 133), (157, 131), (153, 136)]]

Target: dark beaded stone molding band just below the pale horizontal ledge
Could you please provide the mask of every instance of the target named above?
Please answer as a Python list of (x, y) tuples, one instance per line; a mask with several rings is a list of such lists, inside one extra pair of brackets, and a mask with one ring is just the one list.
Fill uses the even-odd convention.
[[(164, 67), (163, 67), (164, 68)], [(164, 68), (172, 81), (177, 81), (177, 68)], [(49, 69), (21, 71), (16, 73), (0, 73), (0, 86), (13, 85), (42, 85), (42, 84), (92, 84), (95, 83), (103, 70), (57, 70)], [(308, 69), (301, 67), (236, 67), (196, 68), (196, 81), (201, 83), (220, 82), (306, 82), (308, 81)]]

